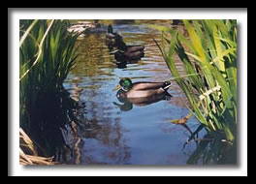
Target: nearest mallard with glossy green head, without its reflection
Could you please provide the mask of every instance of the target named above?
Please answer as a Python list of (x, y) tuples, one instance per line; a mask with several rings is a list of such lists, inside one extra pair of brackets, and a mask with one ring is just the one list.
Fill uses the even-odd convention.
[[(170, 81), (165, 82), (132, 82), (128, 77), (121, 78), (119, 84), (117, 84), (114, 90), (120, 89), (124, 93), (123, 97), (132, 99), (132, 98), (149, 98), (152, 96), (158, 96), (164, 94), (168, 88), (171, 86)], [(146, 101), (146, 99), (144, 99)]]

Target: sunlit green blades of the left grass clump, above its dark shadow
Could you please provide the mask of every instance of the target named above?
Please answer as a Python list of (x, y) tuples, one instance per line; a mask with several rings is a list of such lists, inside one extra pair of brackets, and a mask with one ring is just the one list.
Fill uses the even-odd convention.
[[(69, 33), (68, 20), (19, 21), (20, 125), (30, 126), (32, 111), (43, 94), (56, 94), (77, 58), (78, 34)], [(50, 106), (50, 104), (49, 104)]]

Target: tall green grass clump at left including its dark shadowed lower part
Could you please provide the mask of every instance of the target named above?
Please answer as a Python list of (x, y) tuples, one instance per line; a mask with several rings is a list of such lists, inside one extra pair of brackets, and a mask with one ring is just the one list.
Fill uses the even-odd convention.
[(71, 121), (66, 114), (72, 115), (74, 102), (62, 83), (78, 56), (79, 35), (68, 26), (68, 20), (19, 21), (19, 122), (38, 141), (56, 139), (59, 127)]

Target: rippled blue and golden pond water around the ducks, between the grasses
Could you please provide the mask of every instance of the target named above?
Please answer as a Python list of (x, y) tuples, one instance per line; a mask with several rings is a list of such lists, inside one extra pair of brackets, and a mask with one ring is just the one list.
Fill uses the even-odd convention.
[[(148, 106), (123, 106), (112, 88), (120, 77), (133, 81), (163, 81), (171, 78), (161, 53), (148, 33), (160, 42), (159, 32), (145, 25), (119, 24), (114, 31), (122, 34), (127, 45), (144, 45), (144, 57), (138, 62), (118, 68), (105, 44), (105, 33), (80, 38), (80, 57), (69, 74), (65, 88), (85, 107), (77, 112), (80, 127), (65, 133), (74, 155), (67, 164), (107, 165), (185, 165), (197, 148), (195, 141), (183, 147), (190, 132), (169, 120), (188, 114), (185, 99), (176, 86), (168, 90), (170, 101)], [(179, 64), (179, 61), (176, 60)], [(182, 66), (179, 68), (182, 72)], [(195, 131), (199, 122), (191, 117), (187, 126)], [(206, 134), (203, 130), (199, 137)], [(197, 164), (202, 164), (198, 159)]]

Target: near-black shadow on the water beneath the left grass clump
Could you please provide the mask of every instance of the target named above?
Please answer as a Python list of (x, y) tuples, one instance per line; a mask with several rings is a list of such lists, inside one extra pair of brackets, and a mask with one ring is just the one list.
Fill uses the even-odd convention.
[[(28, 127), (24, 128), (36, 143), (40, 156), (54, 156), (54, 161), (65, 161), (73, 155), (64, 132), (72, 123), (77, 123), (76, 110), (82, 107), (70, 97), (64, 88), (59, 92), (44, 92), (39, 95), (36, 107), (30, 110)], [(24, 122), (24, 121), (23, 121)]]

